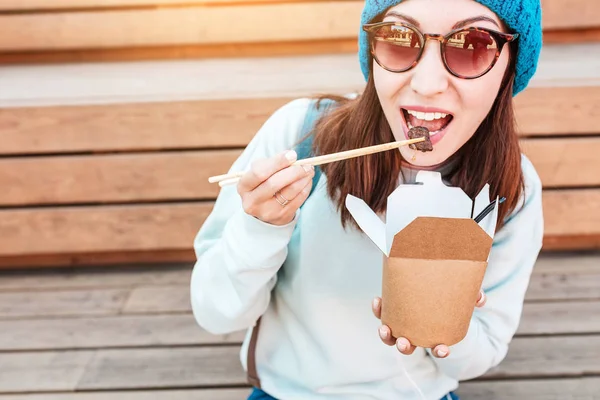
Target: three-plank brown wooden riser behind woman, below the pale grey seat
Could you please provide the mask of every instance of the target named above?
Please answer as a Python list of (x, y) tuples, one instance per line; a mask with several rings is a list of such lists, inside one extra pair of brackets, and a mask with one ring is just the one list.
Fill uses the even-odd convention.
[[(546, 250), (600, 248), (598, 90), (532, 87), (518, 97), (522, 147), (546, 189)], [(193, 260), (218, 194), (207, 177), (227, 171), (289, 100), (2, 110), (0, 266)], [(556, 113), (558, 103), (569, 111)]]

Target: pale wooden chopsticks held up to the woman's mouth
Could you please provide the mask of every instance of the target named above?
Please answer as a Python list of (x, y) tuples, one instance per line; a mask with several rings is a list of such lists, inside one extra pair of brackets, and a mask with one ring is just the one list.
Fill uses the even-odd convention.
[[(423, 142), (424, 140), (425, 140), (424, 137), (420, 137), (420, 138), (416, 138), (416, 139), (400, 140), (397, 142), (377, 144), (374, 146), (362, 147), (360, 149), (346, 150), (346, 151), (341, 151), (339, 153), (332, 153), (332, 154), (326, 154), (323, 156), (305, 158), (305, 159), (294, 162), (292, 165), (307, 165), (307, 164), (322, 165), (322, 164), (327, 164), (327, 163), (331, 163), (331, 162), (335, 162), (335, 161), (347, 160), (349, 158), (355, 158), (355, 157), (365, 156), (368, 154), (374, 154), (374, 153), (379, 153), (382, 151), (397, 149), (398, 147), (406, 146), (406, 145), (413, 144), (413, 143)], [(239, 179), (244, 174), (245, 174), (245, 172), (232, 172), (229, 174), (211, 176), (210, 178), (208, 178), (208, 181), (210, 183), (218, 182), (219, 186), (223, 187), (226, 185), (236, 183), (237, 181), (239, 181)]]

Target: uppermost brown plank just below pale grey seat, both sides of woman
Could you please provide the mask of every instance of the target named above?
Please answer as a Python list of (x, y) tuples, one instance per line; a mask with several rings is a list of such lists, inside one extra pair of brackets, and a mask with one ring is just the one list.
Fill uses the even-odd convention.
[[(600, 87), (531, 87), (515, 98), (520, 132), (598, 133), (600, 108), (594, 99), (599, 97)], [(291, 100), (4, 108), (0, 155), (244, 147), (267, 118)]]

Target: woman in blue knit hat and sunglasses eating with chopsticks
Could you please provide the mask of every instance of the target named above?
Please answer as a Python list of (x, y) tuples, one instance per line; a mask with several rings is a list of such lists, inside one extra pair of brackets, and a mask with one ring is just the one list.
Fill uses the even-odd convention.
[[(323, 165), (311, 192), (318, 170), (290, 166), (313, 105), (298, 99), (235, 162), (233, 171), (248, 172), (221, 191), (196, 238), (191, 296), (206, 330), (248, 330), (241, 361), (252, 399), (457, 398), (460, 380), (505, 357), (543, 236), (541, 184), (520, 154), (512, 106), (536, 68), (540, 14), (534, 0), (368, 0), (365, 90), (333, 98), (312, 149), (403, 140), (424, 126), (433, 151)], [(420, 169), (471, 197), (489, 183), (506, 198), (468, 333), (450, 347), (415, 348), (381, 326), (382, 256), (344, 207), (352, 194), (383, 214), (387, 196)]]

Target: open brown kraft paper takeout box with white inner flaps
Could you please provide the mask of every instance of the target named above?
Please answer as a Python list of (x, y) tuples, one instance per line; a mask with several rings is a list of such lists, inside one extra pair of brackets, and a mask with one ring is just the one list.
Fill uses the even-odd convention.
[(479, 224), (489, 185), (475, 201), (446, 186), (438, 172), (420, 171), (415, 184), (388, 196), (385, 222), (361, 199), (346, 208), (384, 254), (381, 321), (394, 337), (433, 348), (460, 342), (469, 323), (491, 250), (498, 199)]

